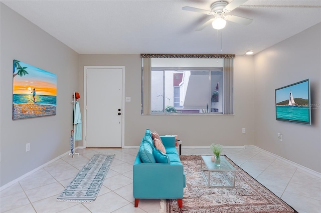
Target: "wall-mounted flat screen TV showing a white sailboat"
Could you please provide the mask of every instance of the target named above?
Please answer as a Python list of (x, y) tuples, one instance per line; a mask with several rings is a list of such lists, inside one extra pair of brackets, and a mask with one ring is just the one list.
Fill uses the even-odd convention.
[(309, 79), (275, 90), (276, 120), (311, 125)]

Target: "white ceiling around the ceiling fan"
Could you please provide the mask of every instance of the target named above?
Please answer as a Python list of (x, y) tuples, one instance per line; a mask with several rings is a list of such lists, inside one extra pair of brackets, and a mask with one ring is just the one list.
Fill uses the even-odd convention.
[(258, 53), (321, 22), (321, 1), (315, 0), (249, 0), (229, 15), (253, 22), (248, 26), (228, 22), (218, 32), (211, 26), (195, 31), (213, 17), (182, 10), (184, 6), (210, 10), (215, 0), (1, 2), (79, 54), (243, 55), (246, 50)]

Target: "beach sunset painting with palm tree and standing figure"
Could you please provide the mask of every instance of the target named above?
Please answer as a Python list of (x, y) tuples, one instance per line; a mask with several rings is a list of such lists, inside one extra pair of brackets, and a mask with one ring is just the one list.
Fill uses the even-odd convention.
[(13, 119), (56, 115), (57, 75), (14, 60)]

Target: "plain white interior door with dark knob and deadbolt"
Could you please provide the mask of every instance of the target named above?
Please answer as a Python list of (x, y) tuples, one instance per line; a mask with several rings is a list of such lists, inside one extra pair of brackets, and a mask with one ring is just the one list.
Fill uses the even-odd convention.
[(86, 70), (86, 147), (121, 147), (123, 70)]

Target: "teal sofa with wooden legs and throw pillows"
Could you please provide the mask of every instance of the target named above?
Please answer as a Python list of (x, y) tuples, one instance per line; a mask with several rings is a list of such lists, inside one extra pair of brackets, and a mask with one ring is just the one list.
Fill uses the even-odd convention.
[(183, 207), (186, 177), (184, 167), (175, 147), (175, 136), (160, 136), (166, 154), (153, 143), (146, 129), (133, 164), (133, 196), (135, 207), (139, 199), (177, 199)]

